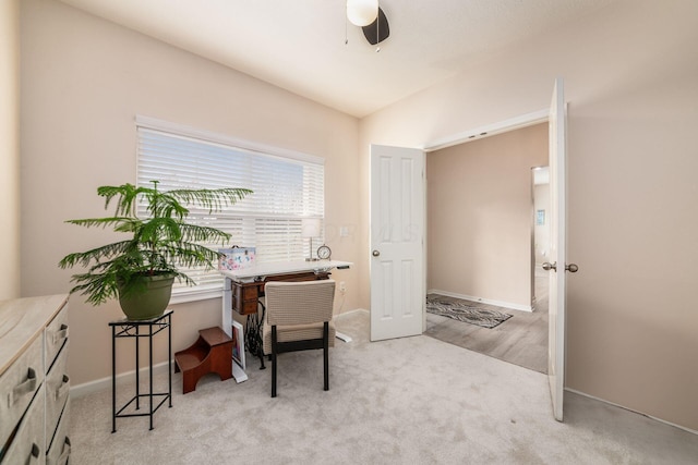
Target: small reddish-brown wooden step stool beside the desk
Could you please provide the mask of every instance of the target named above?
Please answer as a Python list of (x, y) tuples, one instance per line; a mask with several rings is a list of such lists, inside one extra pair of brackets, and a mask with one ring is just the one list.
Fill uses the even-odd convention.
[(196, 389), (204, 375), (215, 372), (221, 381), (232, 377), (232, 339), (218, 327), (198, 330), (198, 340), (174, 354), (174, 372), (182, 371), (184, 394)]

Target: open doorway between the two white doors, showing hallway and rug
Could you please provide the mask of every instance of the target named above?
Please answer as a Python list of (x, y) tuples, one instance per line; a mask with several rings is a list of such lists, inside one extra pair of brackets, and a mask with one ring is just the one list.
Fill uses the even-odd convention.
[[(543, 122), (426, 155), (424, 334), (543, 374), (547, 276), (535, 267), (535, 231), (547, 208), (534, 204), (532, 168), (547, 164), (547, 145)], [(512, 317), (493, 328), (464, 322), (441, 313), (449, 303)]]

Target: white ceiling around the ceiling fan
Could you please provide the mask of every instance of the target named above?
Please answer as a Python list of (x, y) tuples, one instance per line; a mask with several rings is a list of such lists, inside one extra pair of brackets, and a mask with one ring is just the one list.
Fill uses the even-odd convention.
[(380, 52), (345, 0), (61, 1), (361, 118), (615, 0), (381, 0)]

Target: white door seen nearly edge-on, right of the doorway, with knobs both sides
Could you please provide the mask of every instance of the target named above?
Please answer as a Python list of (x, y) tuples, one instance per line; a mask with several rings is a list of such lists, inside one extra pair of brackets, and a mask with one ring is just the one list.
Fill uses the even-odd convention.
[(561, 77), (555, 79), (553, 101), (550, 106), (551, 237), (550, 262), (543, 265), (550, 274), (547, 378), (553, 414), (558, 421), (563, 420), (565, 388), (566, 106), (563, 85)]

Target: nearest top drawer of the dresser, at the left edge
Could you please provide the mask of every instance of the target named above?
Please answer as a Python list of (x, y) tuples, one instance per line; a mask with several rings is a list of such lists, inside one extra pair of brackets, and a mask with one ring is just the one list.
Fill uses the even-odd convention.
[[(41, 341), (43, 338), (36, 338), (0, 377), (0, 446), (7, 442), (44, 381)], [(43, 416), (41, 414), (41, 418)]]

